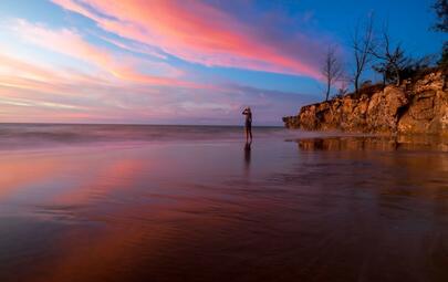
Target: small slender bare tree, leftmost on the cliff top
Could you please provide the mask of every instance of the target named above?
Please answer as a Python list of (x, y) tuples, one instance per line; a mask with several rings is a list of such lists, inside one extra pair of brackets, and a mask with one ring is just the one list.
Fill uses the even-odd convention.
[(325, 88), (325, 101), (329, 101), (330, 91), (334, 84), (343, 75), (343, 65), (341, 60), (337, 58), (337, 52), (335, 46), (329, 46), (329, 50), (325, 54), (324, 63), (322, 66), (322, 74), (325, 79), (326, 88)]

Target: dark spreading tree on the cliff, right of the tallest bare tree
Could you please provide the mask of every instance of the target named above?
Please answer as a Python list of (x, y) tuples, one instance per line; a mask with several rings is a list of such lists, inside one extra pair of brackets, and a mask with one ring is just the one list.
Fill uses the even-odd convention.
[(373, 69), (383, 74), (383, 84), (394, 82), (397, 86), (402, 82), (402, 72), (409, 64), (400, 43), (392, 48), (390, 36), (386, 28), (383, 29), (383, 39), (371, 53), (379, 62)]

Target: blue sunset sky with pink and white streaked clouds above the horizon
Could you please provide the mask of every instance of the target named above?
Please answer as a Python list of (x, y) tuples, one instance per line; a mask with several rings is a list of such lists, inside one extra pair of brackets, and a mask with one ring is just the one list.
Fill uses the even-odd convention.
[(251, 106), (281, 125), (323, 98), (330, 45), (351, 72), (369, 14), (409, 56), (439, 53), (433, 2), (1, 0), (0, 122), (238, 125)]

